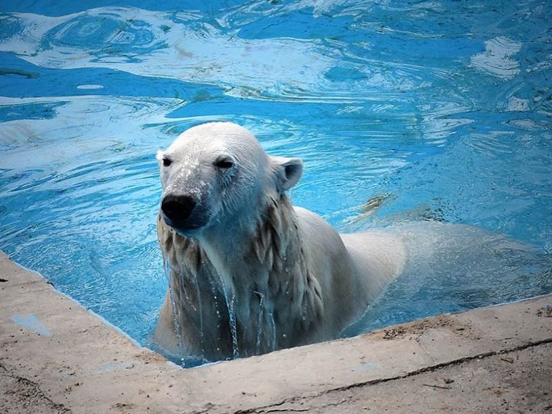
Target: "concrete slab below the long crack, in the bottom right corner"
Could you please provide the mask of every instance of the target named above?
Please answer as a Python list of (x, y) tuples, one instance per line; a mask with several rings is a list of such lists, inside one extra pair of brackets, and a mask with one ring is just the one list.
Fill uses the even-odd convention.
[(239, 413), (544, 413), (552, 410), (551, 356), (545, 341)]

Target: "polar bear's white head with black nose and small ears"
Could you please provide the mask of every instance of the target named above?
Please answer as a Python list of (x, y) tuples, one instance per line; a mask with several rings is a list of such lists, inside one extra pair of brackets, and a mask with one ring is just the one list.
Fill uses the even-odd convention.
[(270, 157), (245, 128), (229, 122), (195, 126), (157, 152), (161, 216), (187, 237), (229, 223), (253, 225), (270, 199), (297, 184), (297, 158)]

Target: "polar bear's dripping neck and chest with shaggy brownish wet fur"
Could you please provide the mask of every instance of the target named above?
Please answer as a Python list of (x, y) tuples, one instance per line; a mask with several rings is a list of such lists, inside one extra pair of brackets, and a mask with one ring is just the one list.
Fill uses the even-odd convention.
[(190, 351), (207, 357), (215, 348), (224, 357), (265, 353), (298, 345), (293, 339), (307, 338), (317, 326), (322, 292), (308, 272), (285, 194), (270, 197), (256, 226), (233, 240), (242, 246), (233, 246), (233, 261), (201, 239), (177, 235), (161, 219), (158, 230), (170, 267), (175, 329), (188, 337), (186, 348), (199, 348)]

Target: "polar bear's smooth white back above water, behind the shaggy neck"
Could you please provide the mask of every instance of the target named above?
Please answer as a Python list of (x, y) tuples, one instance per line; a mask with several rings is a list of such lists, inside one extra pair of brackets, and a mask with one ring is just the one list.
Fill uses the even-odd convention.
[(310, 210), (294, 209), (305, 257), (324, 293), (325, 322), (330, 330), (341, 331), (402, 272), (402, 239), (384, 231), (339, 235)]

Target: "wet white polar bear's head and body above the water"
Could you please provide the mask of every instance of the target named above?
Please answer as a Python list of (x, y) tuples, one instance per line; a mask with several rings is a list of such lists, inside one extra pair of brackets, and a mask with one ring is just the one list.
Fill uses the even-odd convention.
[(166, 353), (219, 360), (335, 338), (404, 268), (400, 235), (339, 235), (292, 206), (302, 161), (267, 155), (241, 126), (195, 126), (157, 159)]

